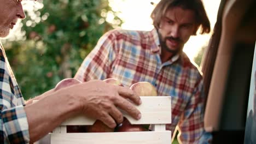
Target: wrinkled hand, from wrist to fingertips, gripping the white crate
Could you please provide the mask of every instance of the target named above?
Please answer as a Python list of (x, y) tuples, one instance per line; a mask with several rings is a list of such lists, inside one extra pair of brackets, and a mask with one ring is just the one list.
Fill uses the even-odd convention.
[[(75, 85), (80, 93), (80, 110), (86, 115), (99, 119), (108, 127), (114, 128), (123, 122), (123, 114), (117, 108), (126, 111), (133, 118), (141, 118), (141, 113), (131, 103), (141, 104), (141, 99), (131, 89), (109, 85), (100, 80), (92, 80)], [(128, 100), (129, 99), (129, 100)], [(116, 123), (117, 122), (117, 123)]]

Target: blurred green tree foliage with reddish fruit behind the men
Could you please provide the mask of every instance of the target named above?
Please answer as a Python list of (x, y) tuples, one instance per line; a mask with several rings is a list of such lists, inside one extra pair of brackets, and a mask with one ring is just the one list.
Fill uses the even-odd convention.
[[(25, 10), (24, 40), (5, 43), (5, 51), (25, 99), (66, 77), (73, 77), (102, 34), (121, 25), (107, 0), (43, 0)], [(107, 14), (114, 15), (112, 23)]]

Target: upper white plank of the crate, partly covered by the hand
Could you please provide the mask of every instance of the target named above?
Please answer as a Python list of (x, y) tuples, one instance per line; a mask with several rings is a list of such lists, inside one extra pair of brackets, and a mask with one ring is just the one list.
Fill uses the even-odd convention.
[[(129, 119), (131, 124), (168, 124), (171, 123), (171, 97), (141, 97), (142, 104), (137, 106), (142, 117), (137, 121), (123, 111), (124, 117)], [(96, 120), (77, 116), (67, 119), (61, 125), (92, 125)]]

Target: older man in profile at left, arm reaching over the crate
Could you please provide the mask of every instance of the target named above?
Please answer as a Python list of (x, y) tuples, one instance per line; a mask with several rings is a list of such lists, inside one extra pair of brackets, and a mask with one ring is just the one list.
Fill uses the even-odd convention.
[[(25, 19), (21, 1), (0, 0), (0, 37), (6, 37), (18, 19)], [(123, 121), (116, 106), (136, 119), (141, 117), (126, 100), (140, 104), (136, 94), (129, 88), (107, 85), (99, 80), (56, 92), (50, 90), (36, 98), (40, 99), (38, 103), (25, 106), (2, 44), (0, 48), (0, 143), (32, 143), (78, 113), (100, 119), (111, 128), (115, 127), (115, 121)]]

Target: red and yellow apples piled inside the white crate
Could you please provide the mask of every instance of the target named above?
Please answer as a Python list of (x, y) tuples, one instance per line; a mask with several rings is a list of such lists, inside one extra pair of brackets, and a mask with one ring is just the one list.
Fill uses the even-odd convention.
[[(120, 81), (114, 78), (103, 80), (104, 82), (112, 85), (123, 86)], [(77, 79), (69, 78), (64, 79), (57, 83), (55, 91), (58, 89), (68, 87), (81, 83)], [(133, 92), (139, 96), (157, 96), (155, 87), (149, 82), (137, 82), (130, 86)], [(119, 124), (116, 128), (112, 129), (105, 125), (103, 122), (96, 120), (93, 125), (72, 125), (67, 126), (67, 133), (100, 133), (100, 132), (123, 132), (123, 131), (148, 131), (149, 125), (131, 124), (125, 117), (123, 123)]]

